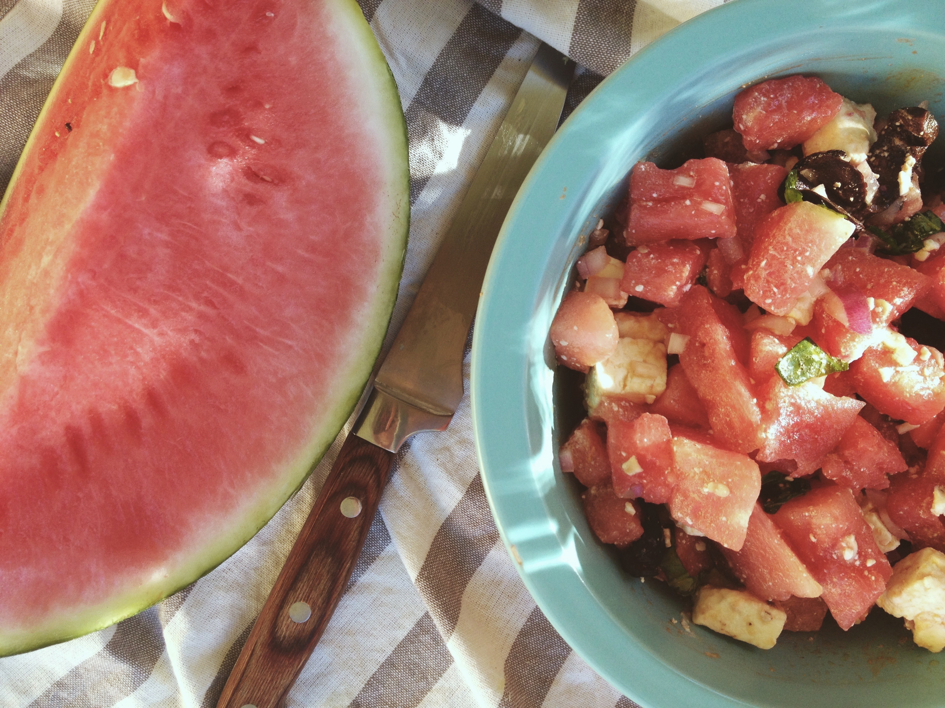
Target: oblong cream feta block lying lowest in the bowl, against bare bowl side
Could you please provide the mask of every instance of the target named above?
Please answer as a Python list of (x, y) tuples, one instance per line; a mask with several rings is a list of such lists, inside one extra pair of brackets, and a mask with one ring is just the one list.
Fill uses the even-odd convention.
[(705, 585), (696, 594), (693, 622), (759, 649), (771, 649), (787, 615), (745, 590)]

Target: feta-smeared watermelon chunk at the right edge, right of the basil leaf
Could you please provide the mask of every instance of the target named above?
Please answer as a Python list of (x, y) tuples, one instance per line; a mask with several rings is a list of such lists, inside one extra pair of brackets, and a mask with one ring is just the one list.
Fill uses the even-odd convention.
[(921, 425), (945, 409), (945, 367), (935, 347), (889, 332), (850, 365), (856, 392), (892, 418)]

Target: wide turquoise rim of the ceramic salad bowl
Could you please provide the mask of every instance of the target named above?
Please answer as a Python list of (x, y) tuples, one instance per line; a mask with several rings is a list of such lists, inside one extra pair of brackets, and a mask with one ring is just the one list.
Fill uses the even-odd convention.
[[(843, 12), (849, 11), (852, 6), (849, 0), (795, 0), (793, 3), (737, 0), (709, 9), (651, 42), (594, 89), (558, 129), (513, 201), (492, 252), (473, 329), (471, 368), (473, 434), (490, 510), (525, 586), (555, 629), (594, 670), (642, 706), (669, 708), (679, 705), (683, 700), (699, 700), (704, 706), (717, 708), (744, 706), (747, 703), (696, 682), (691, 676), (664, 664), (658, 656), (639, 645), (627, 647), (626, 643), (621, 644), (622, 649), (628, 651), (623, 656), (624, 663), (630, 667), (618, 669), (613, 658), (607, 656), (607, 648), (617, 638), (610, 615), (593, 601), (575, 606), (572, 600), (565, 599), (572, 593), (589, 599), (593, 595), (573, 566), (549, 565), (545, 562), (547, 559), (542, 554), (554, 554), (556, 550), (560, 552), (561, 548), (553, 548), (554, 543), (549, 542), (549, 538), (558, 537), (554, 530), (544, 528), (542, 531), (542, 524), (547, 524), (543, 500), (529, 498), (527, 494), (509, 495), (500, 489), (499, 476), (507, 474), (509, 470), (498, 460), (497, 448), (507, 449), (512, 446), (518, 451), (516, 459), (541, 458), (549, 466), (552, 464), (548, 449), (528, 449), (524, 436), (516, 439), (524, 430), (520, 418), (528, 402), (522, 378), (529, 362), (527, 352), (522, 347), (521, 327), (524, 322), (511, 323), (513, 326), (510, 327), (509, 318), (504, 314), (503, 301), (507, 301), (509, 296), (518, 295), (534, 304), (538, 276), (521, 278), (517, 283), (512, 283), (510, 289), (510, 263), (523, 262), (523, 233), (529, 230), (533, 233), (541, 231), (541, 223), (536, 224), (532, 218), (536, 205), (531, 202), (539, 198), (536, 194), (540, 192), (549, 194), (547, 188), (550, 182), (547, 176), (556, 174), (557, 184), (581, 183), (580, 171), (593, 168), (587, 160), (574, 160), (568, 154), (568, 145), (585, 140), (589, 135), (600, 138), (598, 132), (589, 131), (608, 129), (590, 117), (595, 110), (604, 106), (609, 92), (624, 89), (633, 82), (636, 96), (646, 93), (664, 95), (669, 91), (667, 87), (675, 86), (690, 76), (689, 67), (699, 59), (708, 61), (725, 55), (730, 51), (731, 42), (752, 27), (779, 26), (781, 23), (790, 25), (795, 34), (847, 31), (850, 18)], [(910, 11), (897, 12), (903, 6)], [(933, 12), (935, 9), (937, 13)], [(861, 25), (871, 25), (902, 35), (915, 36), (931, 32), (940, 41), (945, 36), (945, 23), (941, 19), (943, 14), (935, 0), (876, 0), (868, 5), (868, 14), (860, 15), (858, 19)], [(891, 17), (899, 18), (899, 24), (891, 21)], [(919, 17), (924, 18), (921, 23)], [(680, 46), (687, 47), (685, 61), (679, 60)], [(764, 76), (778, 73), (774, 71)], [(756, 80), (764, 76), (758, 76)], [(637, 107), (631, 104), (631, 108)], [(639, 106), (639, 110), (645, 113), (647, 107)], [(560, 199), (565, 201), (566, 196), (572, 195), (562, 193)], [(579, 200), (579, 197), (580, 194), (574, 198)], [(571, 203), (569, 199), (568, 204)], [(546, 220), (551, 221), (558, 218), (562, 209), (570, 209), (570, 206), (559, 207), (557, 204), (544, 206), (549, 207), (545, 210)], [(557, 299), (563, 291), (562, 281), (558, 283)], [(496, 292), (502, 292), (503, 295), (495, 295)], [(515, 325), (518, 325), (519, 330), (516, 330)], [(496, 391), (501, 391), (501, 396), (495, 395)], [(535, 525), (534, 543), (528, 547), (520, 542), (519, 548), (514, 548), (516, 539), (510, 539), (508, 529), (515, 525), (521, 527), (523, 522)], [(546, 533), (546, 538), (541, 538), (542, 532)], [(589, 643), (586, 637), (592, 632), (596, 641)]]

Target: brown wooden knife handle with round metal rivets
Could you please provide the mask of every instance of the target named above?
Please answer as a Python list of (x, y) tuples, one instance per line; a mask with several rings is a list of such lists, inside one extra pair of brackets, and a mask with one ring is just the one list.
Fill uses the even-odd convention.
[(345, 440), (217, 708), (282, 706), (351, 578), (393, 461), (354, 434)]

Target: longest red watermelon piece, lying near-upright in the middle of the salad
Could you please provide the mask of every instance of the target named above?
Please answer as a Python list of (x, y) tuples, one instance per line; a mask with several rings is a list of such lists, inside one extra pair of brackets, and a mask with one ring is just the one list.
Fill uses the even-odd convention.
[(696, 285), (676, 311), (665, 312), (676, 312), (676, 329), (689, 337), (679, 363), (705, 405), (715, 435), (730, 449), (750, 452), (761, 442), (761, 413), (743, 363), (747, 333), (737, 310), (731, 310), (729, 303)]

